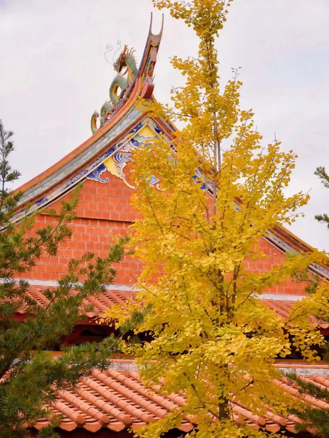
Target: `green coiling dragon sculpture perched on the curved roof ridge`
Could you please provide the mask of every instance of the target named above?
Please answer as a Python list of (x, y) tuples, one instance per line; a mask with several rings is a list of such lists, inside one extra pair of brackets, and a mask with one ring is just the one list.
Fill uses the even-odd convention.
[[(114, 111), (115, 107), (118, 105), (120, 100), (123, 98), (124, 93), (127, 88), (133, 82), (137, 75), (136, 60), (133, 55), (133, 50), (127, 50), (128, 47), (125, 45), (119, 58), (113, 64), (115, 71), (118, 73), (109, 87), (109, 101), (106, 101), (101, 107), (100, 115), (97, 111), (94, 112), (92, 120), (90, 122), (90, 127), (92, 132), (96, 132), (100, 127), (107, 122), (109, 116)], [(126, 70), (122, 72), (123, 68)], [(127, 73), (127, 77), (124, 75)], [(97, 119), (100, 118), (99, 126), (97, 126)]]

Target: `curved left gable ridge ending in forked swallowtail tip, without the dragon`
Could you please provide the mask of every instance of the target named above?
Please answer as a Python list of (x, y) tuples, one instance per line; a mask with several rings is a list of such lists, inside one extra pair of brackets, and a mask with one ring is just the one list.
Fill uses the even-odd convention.
[[(153, 72), (156, 63), (163, 28), (158, 34), (152, 33), (152, 14), (144, 52), (132, 82), (119, 96), (118, 103), (106, 122), (80, 146), (72, 150), (60, 161), (32, 178), (17, 190), (24, 193), (20, 207), (31, 204), (30, 211), (44, 207), (69, 192), (80, 181), (122, 145), (122, 136), (133, 135), (139, 122), (145, 118), (136, 109), (138, 97), (149, 99), (154, 88)], [(17, 216), (19, 219), (20, 215)]]

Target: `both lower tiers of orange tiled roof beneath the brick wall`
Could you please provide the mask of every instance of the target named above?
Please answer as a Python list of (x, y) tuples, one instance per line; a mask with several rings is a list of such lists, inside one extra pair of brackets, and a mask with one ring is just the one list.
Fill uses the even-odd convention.
[[(54, 288), (55, 285), (38, 285), (30, 281), (29, 295), (41, 305), (47, 305), (45, 289)], [(105, 293), (97, 297), (89, 297), (86, 304), (92, 304), (93, 310), (88, 312), (90, 320), (97, 318), (108, 307), (114, 304), (123, 304), (127, 299), (133, 298), (135, 292), (124, 285), (112, 285)], [(271, 294), (263, 297), (264, 302), (279, 316), (285, 318), (291, 306), (296, 302), (296, 296), (289, 299), (289, 295)], [(298, 299), (302, 299), (299, 296)], [(22, 311), (22, 317), (24, 312)], [(320, 323), (322, 328), (327, 328), (328, 323)], [(61, 353), (58, 353), (61, 354)], [(280, 360), (276, 366), (284, 371), (295, 371), (303, 378), (323, 385), (329, 389), (329, 365), (324, 363), (312, 365), (301, 360)], [(298, 389), (291, 385), (286, 377), (275, 380), (275, 385), (280, 386), (293, 397), (302, 398), (314, 407), (325, 407), (324, 402), (310, 396), (303, 396)], [(80, 379), (74, 391), (60, 391), (56, 402), (50, 408), (55, 414), (62, 416), (59, 428), (63, 431), (77, 429), (91, 433), (111, 430), (114, 432), (135, 429), (159, 418), (166, 416), (173, 409), (185, 403), (182, 394), (167, 396), (155, 395), (141, 384), (136, 363), (132, 359), (113, 359), (106, 371), (94, 370), (86, 378)], [(274, 414), (270, 408), (264, 416), (253, 415), (239, 402), (233, 405), (233, 416), (236, 421), (244, 417), (246, 424), (253, 429), (264, 428), (270, 433), (288, 431), (296, 433), (295, 425), (299, 419), (293, 415), (282, 417)], [(33, 425), (34, 429), (41, 429), (49, 422), (47, 418)], [(192, 430), (194, 424), (190, 418), (181, 423), (179, 429), (183, 432)], [(97, 435), (96, 435), (97, 436)]]

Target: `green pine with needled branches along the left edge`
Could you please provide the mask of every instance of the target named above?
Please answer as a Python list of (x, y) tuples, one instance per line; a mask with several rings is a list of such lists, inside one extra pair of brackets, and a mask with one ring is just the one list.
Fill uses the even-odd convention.
[[(72, 259), (58, 287), (44, 291), (46, 306), (31, 298), (28, 281), (17, 277), (24, 278), (41, 258), (56, 256), (61, 243), (71, 238), (69, 223), (75, 218), (81, 186), (62, 201), (59, 212), (29, 213), (27, 206), (23, 218), (13, 221), (22, 193), (8, 187), (20, 176), (9, 161), (14, 150), (12, 136), (0, 121), (0, 436), (29, 436), (26, 424), (49, 416), (52, 424), (40, 436), (54, 437), (52, 426), (60, 418), (52, 417), (45, 406), (56, 399), (59, 390), (74, 389), (79, 378), (93, 368), (107, 367), (119, 349), (119, 339), (110, 336), (99, 344), (67, 348), (57, 360), (51, 350), (85, 317), (86, 298), (104, 292), (113, 282), (114, 265), (128, 254), (129, 238), (119, 239), (104, 258), (87, 252)], [(34, 229), (35, 217), (41, 213), (56, 220)], [(26, 319), (17, 320), (17, 313)]]

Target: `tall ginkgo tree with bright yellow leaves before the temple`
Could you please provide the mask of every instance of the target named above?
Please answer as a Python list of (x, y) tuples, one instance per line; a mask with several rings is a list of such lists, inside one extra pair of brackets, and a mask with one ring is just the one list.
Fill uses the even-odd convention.
[[(141, 290), (136, 302), (111, 308), (104, 317), (117, 318), (125, 330), (133, 319), (135, 333), (149, 332), (151, 341), (122, 349), (136, 356), (153, 391), (186, 397), (137, 436), (161, 436), (184, 419), (195, 424), (188, 436), (267, 436), (248, 427), (236, 405), (253, 414), (264, 414), (268, 406), (281, 414), (296, 407), (275, 385), (280, 375), (273, 364), (292, 348), (317, 358), (314, 347), (322, 337), (308, 316), (318, 314), (328, 291), (320, 281), (286, 320), (258, 297), (324, 256), (296, 252), (271, 270), (247, 269), (248, 260), (266, 257), (262, 236), (294, 222), (308, 200), (302, 192), (286, 195), (296, 155), (283, 152), (279, 141), (261, 145), (252, 111), (240, 107), (237, 70), (220, 83), (216, 42), (232, 2), (153, 3), (193, 29), (198, 54), (172, 59), (186, 78), (185, 86), (172, 89), (172, 106), (141, 102), (144, 111), (165, 120), (170, 115), (184, 127), (170, 141), (159, 135), (134, 153), (139, 219), (133, 244), (145, 262)], [(159, 190), (150, 185), (152, 175), (160, 180)]]

